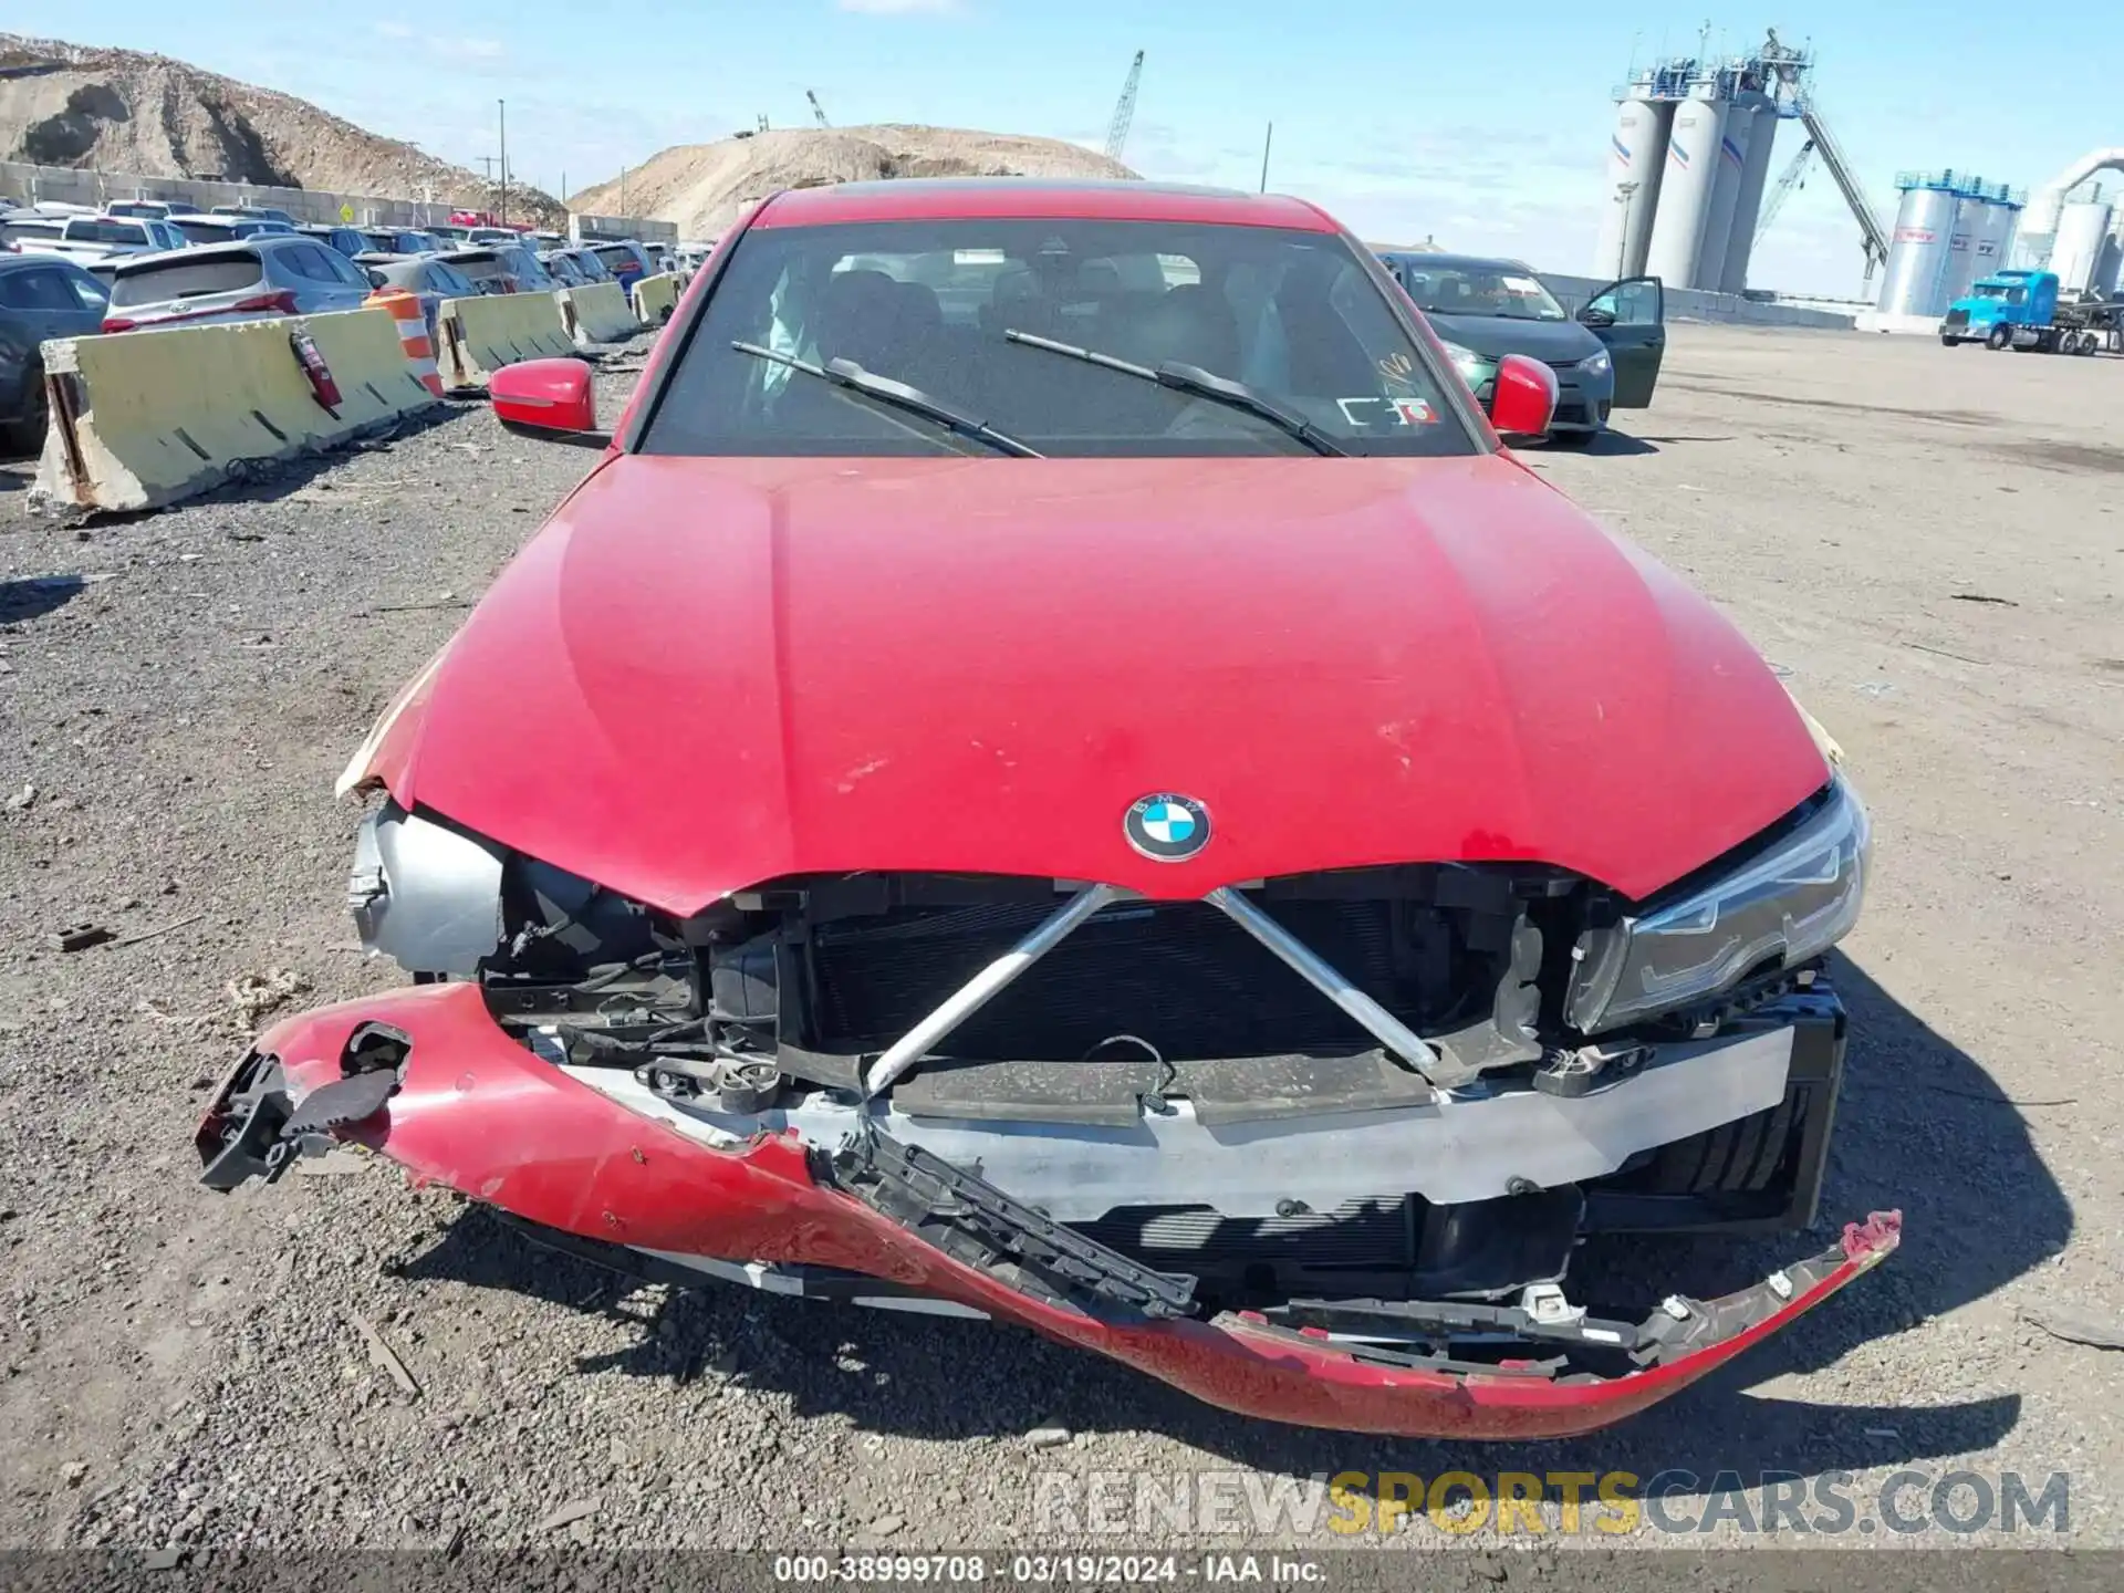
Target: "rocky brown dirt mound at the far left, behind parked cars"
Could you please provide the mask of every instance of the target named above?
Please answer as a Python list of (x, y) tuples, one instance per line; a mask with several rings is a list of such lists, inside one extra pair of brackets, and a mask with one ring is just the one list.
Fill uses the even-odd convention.
[[(0, 34), (0, 159), (140, 176), (329, 189), (491, 210), (478, 172), (380, 138), (308, 100), (202, 72), (168, 55)], [(563, 223), (537, 189), (510, 212)]]

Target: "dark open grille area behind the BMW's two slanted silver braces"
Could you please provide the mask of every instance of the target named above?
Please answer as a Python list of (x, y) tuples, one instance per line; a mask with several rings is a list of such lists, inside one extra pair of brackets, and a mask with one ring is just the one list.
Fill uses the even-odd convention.
[[(822, 1051), (890, 1045), (1049, 911), (1051, 901), (1011, 901), (820, 924), (807, 960), (811, 1043)], [(1451, 1022), (1478, 990), (1487, 1003), (1495, 983), (1491, 958), (1472, 954), (1449, 915), (1423, 903), (1289, 901), (1270, 911), (1408, 1024)], [(1376, 1043), (1215, 907), (1117, 903), (937, 1049), (1075, 1062), (1113, 1054), (1107, 1043), (1121, 1034), (1168, 1062), (1353, 1056)]]

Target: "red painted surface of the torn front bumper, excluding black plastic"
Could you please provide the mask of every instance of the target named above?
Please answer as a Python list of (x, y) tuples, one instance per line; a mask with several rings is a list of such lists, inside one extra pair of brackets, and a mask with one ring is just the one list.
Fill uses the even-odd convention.
[[(1444, 1374), (1378, 1366), (1296, 1332), (1215, 1321), (1109, 1323), (1028, 1298), (839, 1189), (794, 1136), (716, 1151), (639, 1117), (512, 1041), (474, 986), (370, 996), (291, 1017), (259, 1051), (302, 1096), (340, 1077), (365, 1022), (412, 1039), (404, 1087), (348, 1130), (416, 1179), (586, 1238), (892, 1279), (1109, 1355), (1209, 1404), (1272, 1421), (1404, 1438), (1563, 1438), (1635, 1415), (1827, 1300), (1897, 1245), (1897, 1219), (1844, 1234), (1844, 1262), (1744, 1332), (1618, 1378)], [(217, 1096), (219, 1102), (219, 1096)], [(830, 1147), (826, 1147), (830, 1149)]]

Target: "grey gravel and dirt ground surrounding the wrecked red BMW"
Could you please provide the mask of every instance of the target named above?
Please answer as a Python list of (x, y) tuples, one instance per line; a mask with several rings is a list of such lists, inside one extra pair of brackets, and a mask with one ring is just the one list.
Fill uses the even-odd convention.
[[(1899, 1468), (2062, 1468), (2071, 1540), (2124, 1542), (2124, 1355), (2024, 1315), (2124, 1323), (2124, 450), (2094, 418), (2120, 382), (1680, 327), (1638, 438), (1529, 452), (1791, 671), (1880, 824), (1822, 1234), (1608, 1262), (1701, 1291), (1869, 1209), (1907, 1228), (1727, 1376), (1519, 1446), (1245, 1421), (1011, 1330), (633, 1287), (353, 1153), (200, 1189), (189, 1134), (253, 1028), (389, 981), (344, 918), (333, 775), (586, 457), (459, 408), (87, 531), (0, 472), (0, 1546), (1005, 1546), (1056, 1538), (1037, 1474), (1453, 1468), (1686, 1468), (1682, 1514), (1723, 1470), (1852, 1472), (1869, 1514)], [(83, 920), (149, 939), (51, 949)], [(1153, 1540), (1202, 1542), (1111, 1546)]]

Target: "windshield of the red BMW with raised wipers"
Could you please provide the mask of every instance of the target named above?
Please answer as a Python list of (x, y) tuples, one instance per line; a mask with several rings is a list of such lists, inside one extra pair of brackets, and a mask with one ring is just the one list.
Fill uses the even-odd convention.
[(1092, 219), (758, 227), (731, 251), (641, 442), (663, 455), (960, 450), (903, 408), (737, 342), (854, 361), (1041, 455), (1308, 450), (1245, 404), (1073, 357), (1083, 350), (1240, 382), (1336, 452), (1476, 450), (1429, 355), (1336, 234)]

